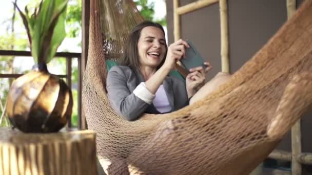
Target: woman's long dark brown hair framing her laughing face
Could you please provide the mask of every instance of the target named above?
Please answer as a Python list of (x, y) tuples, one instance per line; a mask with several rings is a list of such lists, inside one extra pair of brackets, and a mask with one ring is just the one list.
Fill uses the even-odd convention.
[[(122, 59), (120, 60), (120, 65), (127, 65), (131, 69), (138, 69), (140, 67), (138, 42), (141, 36), (142, 29), (148, 26), (159, 28), (160, 30), (163, 31), (165, 35), (165, 31), (163, 27), (158, 23), (153, 23), (151, 21), (143, 21), (141, 24), (136, 25), (128, 36), (128, 40), (126, 42), (126, 46), (124, 50), (124, 55)], [(165, 44), (165, 47), (166, 47), (166, 52), (165, 52), (165, 58), (166, 58), (166, 55), (167, 55), (166, 44)], [(164, 64), (165, 58), (162, 60), (162, 62), (160, 63), (157, 69), (159, 69)]]

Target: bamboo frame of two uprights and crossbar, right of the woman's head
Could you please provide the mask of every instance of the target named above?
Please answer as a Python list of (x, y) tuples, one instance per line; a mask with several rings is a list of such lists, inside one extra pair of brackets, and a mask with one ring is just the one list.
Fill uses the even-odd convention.
[(203, 7), (218, 3), (220, 6), (220, 30), (221, 30), (221, 70), (229, 73), (229, 43), (228, 43), (228, 18), (227, 0), (199, 0), (194, 3), (179, 7), (179, 0), (173, 0), (173, 35), (174, 41), (181, 38), (180, 15), (201, 9)]

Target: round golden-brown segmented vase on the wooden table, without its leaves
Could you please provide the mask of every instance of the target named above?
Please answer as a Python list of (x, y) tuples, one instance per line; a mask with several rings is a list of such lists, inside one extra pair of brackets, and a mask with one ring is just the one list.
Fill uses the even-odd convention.
[(62, 79), (50, 74), (46, 64), (41, 64), (12, 83), (6, 111), (19, 130), (50, 133), (66, 125), (72, 105), (70, 88)]

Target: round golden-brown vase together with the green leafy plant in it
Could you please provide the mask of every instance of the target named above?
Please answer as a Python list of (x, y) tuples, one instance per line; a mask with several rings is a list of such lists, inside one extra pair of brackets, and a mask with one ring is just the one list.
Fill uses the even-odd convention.
[(13, 126), (28, 133), (57, 132), (72, 113), (72, 94), (66, 83), (51, 75), (47, 63), (66, 36), (65, 14), (68, 0), (43, 0), (33, 14), (27, 6), (23, 19), (31, 55), (36, 66), (17, 78), (7, 97), (6, 111)]

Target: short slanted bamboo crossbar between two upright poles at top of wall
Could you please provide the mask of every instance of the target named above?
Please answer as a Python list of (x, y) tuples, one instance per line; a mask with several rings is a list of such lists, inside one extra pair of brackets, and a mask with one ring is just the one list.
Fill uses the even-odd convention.
[(182, 15), (182, 14), (185, 14), (185, 13), (188, 13), (188, 12), (191, 12), (191, 11), (194, 11), (194, 10), (197, 10), (197, 9), (200, 9), (200, 8), (203, 8), (214, 3), (218, 3), (218, 2), (219, 0), (199, 0), (197, 2), (179, 7), (176, 9), (176, 11), (179, 15)]

